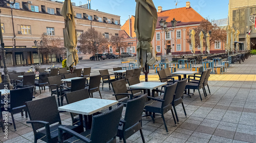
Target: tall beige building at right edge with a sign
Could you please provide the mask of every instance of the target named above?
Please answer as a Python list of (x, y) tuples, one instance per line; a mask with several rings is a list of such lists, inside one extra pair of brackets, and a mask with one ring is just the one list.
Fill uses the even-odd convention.
[(251, 49), (256, 49), (256, 30), (254, 28), (256, 16), (255, 0), (229, 0), (229, 25), (239, 30), (239, 41), (245, 43), (245, 36), (250, 30)]

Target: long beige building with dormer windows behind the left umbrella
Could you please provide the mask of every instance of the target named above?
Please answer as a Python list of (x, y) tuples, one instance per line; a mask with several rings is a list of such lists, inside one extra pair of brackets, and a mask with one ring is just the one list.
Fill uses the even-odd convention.
[[(109, 39), (111, 34), (118, 35), (121, 26), (120, 16), (91, 10), (91, 3), (88, 4), (73, 6), (77, 36), (91, 27), (104, 34), (106, 39)], [(37, 64), (38, 53), (33, 41), (40, 41), (42, 34), (63, 40), (65, 23), (63, 16), (60, 15), (62, 5), (63, 3), (59, 1), (16, 0), (14, 5), (1, 7), (1, 26), (8, 66)], [(76, 48), (79, 57), (89, 59), (90, 54), (82, 53), (79, 43)], [(41, 54), (41, 63), (49, 59), (48, 56)], [(59, 55), (52, 56), (53, 62), (57, 61)], [(65, 58), (65, 55), (62, 56)]]

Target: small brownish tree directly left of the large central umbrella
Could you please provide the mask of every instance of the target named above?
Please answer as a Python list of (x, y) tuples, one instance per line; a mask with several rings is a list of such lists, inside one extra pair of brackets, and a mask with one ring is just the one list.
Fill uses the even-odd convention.
[(110, 38), (110, 45), (113, 47), (113, 48), (116, 48), (116, 50), (119, 52), (119, 58), (120, 58), (120, 51), (121, 51), (121, 48), (122, 47), (127, 47), (128, 44), (126, 42), (124, 42), (124, 34), (121, 35), (121, 36), (114, 36), (114, 35), (111, 35), (111, 38)]

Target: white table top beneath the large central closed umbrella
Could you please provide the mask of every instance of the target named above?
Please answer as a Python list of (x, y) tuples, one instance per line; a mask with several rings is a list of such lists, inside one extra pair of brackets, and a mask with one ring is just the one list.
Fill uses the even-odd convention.
[(166, 82), (140, 82), (134, 85), (131, 85), (130, 88), (133, 89), (157, 89), (159, 87), (162, 87), (163, 85), (166, 85)]

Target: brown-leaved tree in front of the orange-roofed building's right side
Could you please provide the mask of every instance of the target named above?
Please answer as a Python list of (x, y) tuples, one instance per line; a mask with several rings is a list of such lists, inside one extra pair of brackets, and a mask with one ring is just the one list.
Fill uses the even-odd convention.
[[(225, 41), (226, 40), (226, 31), (221, 29), (217, 24), (212, 24), (213, 20), (209, 20), (209, 18), (205, 18), (200, 22), (200, 25), (194, 28), (195, 34), (195, 46), (200, 46), (200, 37), (199, 34), (202, 30), (205, 32), (211, 31), (211, 35), (209, 37), (210, 45), (215, 44), (215, 41)], [(190, 40), (190, 31), (187, 32), (189, 38), (186, 40), (187, 43), (191, 44)], [(206, 41), (204, 40), (204, 45), (206, 46)]]

